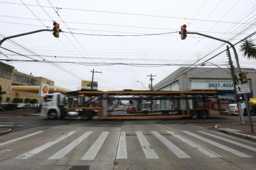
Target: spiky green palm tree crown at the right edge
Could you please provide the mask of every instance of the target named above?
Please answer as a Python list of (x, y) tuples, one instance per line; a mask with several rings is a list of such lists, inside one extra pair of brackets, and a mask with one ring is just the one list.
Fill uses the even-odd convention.
[(243, 40), (240, 45), (240, 50), (243, 52), (243, 56), (248, 59), (256, 59), (256, 45), (253, 40)]

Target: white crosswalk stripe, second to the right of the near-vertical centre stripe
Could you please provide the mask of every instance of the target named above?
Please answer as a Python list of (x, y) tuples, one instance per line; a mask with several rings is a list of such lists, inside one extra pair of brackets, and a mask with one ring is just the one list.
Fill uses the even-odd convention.
[(157, 139), (159, 139), (166, 147), (168, 147), (168, 149), (170, 149), (173, 152), (173, 154), (175, 154), (175, 156), (177, 156), (178, 158), (190, 158), (189, 155), (187, 155), (185, 152), (183, 152), (183, 150), (179, 149), (175, 144), (170, 142), (170, 140), (163, 137), (163, 135), (161, 135), (160, 133), (158, 133), (156, 131), (151, 131), (151, 133)]

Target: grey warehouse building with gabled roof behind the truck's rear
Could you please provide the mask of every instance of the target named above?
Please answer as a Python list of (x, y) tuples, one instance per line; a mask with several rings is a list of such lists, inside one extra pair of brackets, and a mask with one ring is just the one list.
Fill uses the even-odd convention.
[[(248, 82), (252, 89), (251, 98), (256, 98), (256, 70), (241, 69), (247, 73)], [(238, 72), (236, 72), (238, 76)], [(231, 79), (230, 69), (209, 67), (180, 67), (175, 72), (165, 77), (153, 87), (159, 91), (218, 91), (218, 107), (221, 110), (227, 108), (230, 100), (234, 98), (234, 84)], [(158, 108), (171, 110), (175, 101), (161, 101)], [(178, 103), (181, 105), (182, 103)], [(183, 103), (183, 105), (185, 105)], [(193, 105), (192, 102), (189, 105)]]

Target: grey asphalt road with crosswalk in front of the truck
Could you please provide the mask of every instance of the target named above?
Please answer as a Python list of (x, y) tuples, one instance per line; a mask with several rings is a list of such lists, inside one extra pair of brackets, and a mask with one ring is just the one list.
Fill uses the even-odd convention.
[(237, 122), (1, 117), (0, 169), (255, 169), (256, 142), (212, 128)]

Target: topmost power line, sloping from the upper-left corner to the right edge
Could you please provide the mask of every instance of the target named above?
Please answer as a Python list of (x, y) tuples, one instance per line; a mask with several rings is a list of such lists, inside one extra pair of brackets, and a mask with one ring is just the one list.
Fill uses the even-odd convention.
[[(0, 3), (4, 4), (16, 4), (16, 5), (26, 5), (26, 6), (37, 6), (34, 4), (20, 4), (20, 3), (9, 3), (1, 1)], [(177, 16), (160, 16), (160, 15), (153, 15), (153, 14), (139, 14), (139, 13), (123, 13), (123, 12), (115, 12), (115, 11), (100, 11), (100, 10), (91, 10), (91, 9), (78, 9), (78, 8), (60, 8), (60, 7), (50, 7), (50, 6), (42, 6), (44, 8), (54, 8), (54, 9), (66, 9), (66, 10), (74, 10), (74, 11), (90, 11), (90, 12), (96, 12), (96, 13), (112, 13), (112, 14), (127, 14), (127, 15), (135, 15), (135, 16), (150, 16), (154, 18), (172, 18), (177, 20), (193, 20), (193, 21), (207, 21), (207, 22), (216, 22), (216, 23), (233, 23), (233, 24), (241, 24), (241, 25), (252, 25), (251, 23), (236, 23), (232, 21), (216, 21), (216, 20), (202, 20), (202, 19), (196, 19), (196, 18), (183, 18), (183, 17), (177, 17)]]

